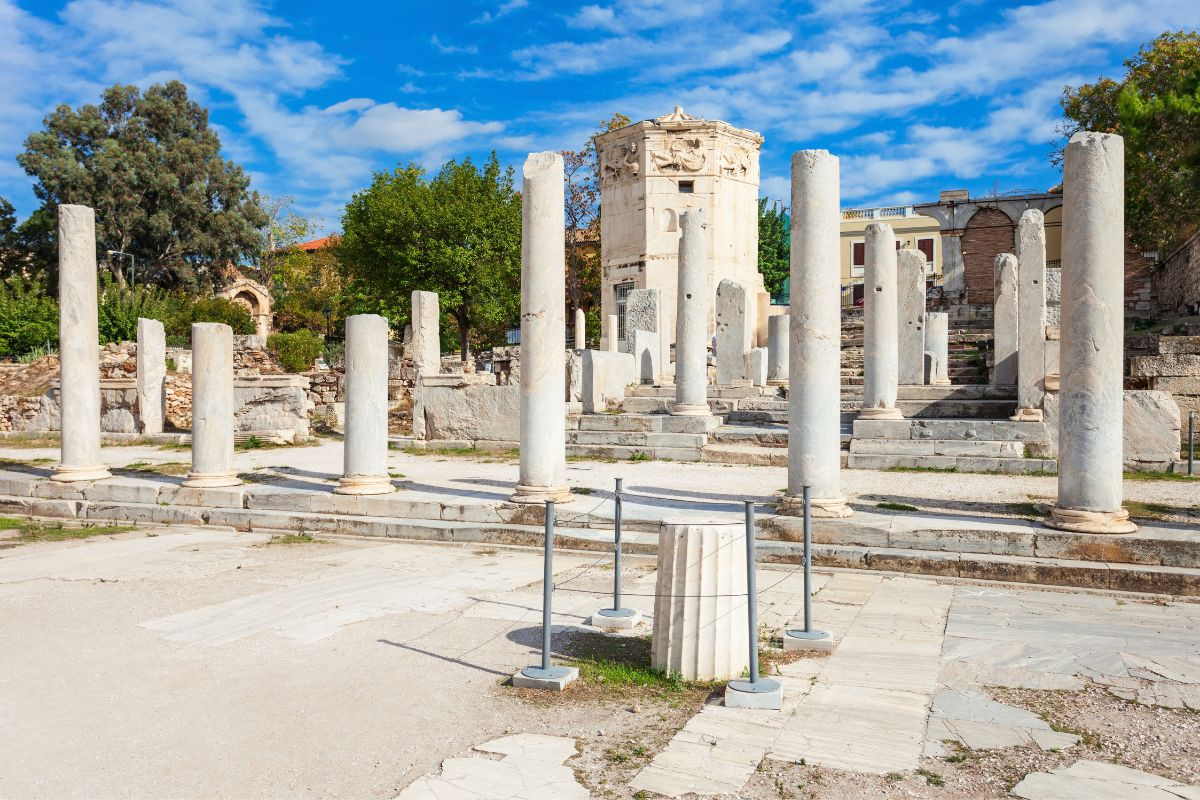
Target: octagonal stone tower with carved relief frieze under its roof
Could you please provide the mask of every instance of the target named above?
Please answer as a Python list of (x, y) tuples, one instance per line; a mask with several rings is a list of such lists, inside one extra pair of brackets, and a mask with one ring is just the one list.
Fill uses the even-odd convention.
[[(724, 279), (754, 300), (764, 291), (758, 273), (758, 150), (762, 136), (719, 120), (684, 114), (634, 122), (595, 137), (600, 154), (600, 318), (618, 317), (624, 341), (624, 299), (634, 289), (661, 289), (674, 339), (679, 267), (679, 215), (703, 209), (708, 224), (708, 336), (713, 299)], [(756, 330), (749, 320), (749, 331)], [(748, 343), (748, 349), (752, 343)], [(619, 349), (624, 349), (623, 347)]]

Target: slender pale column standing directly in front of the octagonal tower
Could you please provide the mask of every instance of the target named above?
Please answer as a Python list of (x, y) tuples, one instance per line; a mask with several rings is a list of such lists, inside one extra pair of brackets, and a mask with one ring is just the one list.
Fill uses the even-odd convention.
[(679, 215), (679, 284), (676, 291), (676, 402), (671, 413), (708, 410), (708, 229), (702, 209)]

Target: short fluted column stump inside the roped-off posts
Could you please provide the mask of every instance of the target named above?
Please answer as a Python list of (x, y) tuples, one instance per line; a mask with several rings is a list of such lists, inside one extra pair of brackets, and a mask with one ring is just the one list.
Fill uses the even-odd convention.
[(743, 524), (667, 521), (659, 530), (650, 666), (727, 680), (749, 666)]

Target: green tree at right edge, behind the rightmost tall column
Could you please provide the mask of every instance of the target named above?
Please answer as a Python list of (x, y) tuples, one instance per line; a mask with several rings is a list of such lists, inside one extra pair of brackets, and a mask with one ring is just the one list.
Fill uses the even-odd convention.
[(1194, 229), (1200, 207), (1200, 34), (1165, 32), (1124, 67), (1121, 80), (1064, 89), (1060, 132), (1124, 137), (1126, 228), (1144, 249), (1163, 252)]

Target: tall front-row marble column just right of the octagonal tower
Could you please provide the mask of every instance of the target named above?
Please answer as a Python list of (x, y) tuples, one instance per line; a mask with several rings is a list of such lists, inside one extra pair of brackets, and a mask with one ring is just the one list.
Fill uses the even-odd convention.
[(780, 513), (848, 517), (841, 493), (841, 210), (838, 158), (792, 156), (792, 302), (788, 312), (787, 494)]

